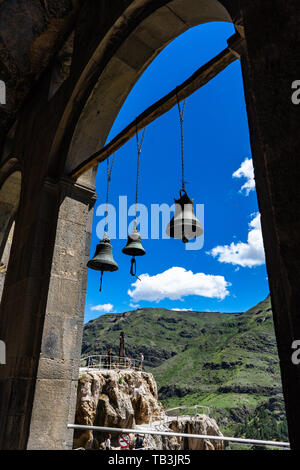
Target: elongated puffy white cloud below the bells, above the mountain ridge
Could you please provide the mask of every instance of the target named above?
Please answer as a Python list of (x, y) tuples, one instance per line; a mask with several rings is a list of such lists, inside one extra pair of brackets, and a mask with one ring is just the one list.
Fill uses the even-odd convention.
[(128, 294), (134, 302), (148, 300), (159, 302), (162, 299), (182, 300), (188, 295), (224, 299), (229, 295), (227, 287), (231, 284), (223, 276), (193, 273), (184, 268), (174, 266), (166, 271), (149, 276), (142, 274), (132, 284)]

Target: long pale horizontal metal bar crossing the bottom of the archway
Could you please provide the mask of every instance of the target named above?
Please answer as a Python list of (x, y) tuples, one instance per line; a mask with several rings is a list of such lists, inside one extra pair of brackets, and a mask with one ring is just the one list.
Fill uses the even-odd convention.
[(158, 436), (169, 436), (169, 437), (189, 437), (192, 439), (209, 439), (211, 441), (229, 441), (229, 442), (238, 442), (241, 444), (256, 444), (261, 446), (269, 447), (285, 447), (290, 448), (288, 442), (273, 442), (273, 441), (260, 441), (257, 439), (243, 439), (239, 437), (224, 437), (224, 436), (208, 436), (205, 434), (186, 434), (182, 432), (167, 432), (167, 431), (154, 431), (149, 429), (126, 429), (126, 428), (111, 428), (105, 426), (86, 426), (83, 424), (68, 424), (68, 429), (82, 429), (91, 431), (101, 431), (101, 432), (117, 432), (122, 433), (126, 432), (129, 434), (151, 434)]

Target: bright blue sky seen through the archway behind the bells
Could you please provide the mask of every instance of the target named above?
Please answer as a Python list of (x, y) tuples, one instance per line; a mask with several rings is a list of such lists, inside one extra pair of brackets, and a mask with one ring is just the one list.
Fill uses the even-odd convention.
[[(132, 89), (108, 141), (224, 49), (226, 39), (233, 33), (231, 24), (210, 23), (174, 40)], [(121, 252), (126, 240), (112, 240), (119, 270), (104, 273), (101, 293), (100, 273), (89, 270), (85, 321), (109, 311), (131, 310), (132, 305), (241, 312), (267, 296), (269, 287), (251, 178), (251, 149), (239, 61), (188, 98), (184, 141), (187, 192), (195, 204), (204, 204), (203, 248), (187, 251), (180, 240), (143, 240), (147, 253), (137, 258), (138, 274), (142, 275), (139, 282), (129, 274), (130, 257)], [(117, 210), (119, 196), (127, 196), (129, 206), (134, 203), (136, 159), (135, 139), (116, 154), (109, 202)], [(171, 205), (181, 185), (180, 165), (180, 128), (175, 107), (146, 129), (139, 202), (148, 208), (154, 203)], [(245, 184), (249, 185), (249, 191), (247, 187), (241, 190)], [(96, 227), (102, 217), (96, 215), (96, 209), (105, 201), (106, 162), (99, 165), (96, 191), (91, 256), (99, 241)], [(128, 221), (132, 219), (129, 217)]]

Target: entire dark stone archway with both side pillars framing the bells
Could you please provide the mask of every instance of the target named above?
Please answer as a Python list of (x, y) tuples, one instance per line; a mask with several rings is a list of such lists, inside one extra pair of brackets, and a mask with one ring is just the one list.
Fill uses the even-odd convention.
[[(15, 262), (1, 304), (1, 339), (9, 344), (8, 366), (0, 371), (2, 448), (58, 449), (72, 442), (66, 425), (74, 419), (94, 193), (88, 187), (93, 175), (77, 184), (65, 175), (104, 144), (130, 88), (161, 48), (192, 25), (230, 21), (227, 11), (245, 31), (242, 69), (256, 187), (290, 441), (300, 448), (300, 369), (291, 362), (291, 344), (300, 338), (299, 108), (290, 96), (300, 76), (298, 0), (82, 3), (70, 75), (50, 100), (48, 77), (40, 77), (11, 146), (22, 159), (23, 181)], [(76, 278), (66, 279), (66, 272)]]

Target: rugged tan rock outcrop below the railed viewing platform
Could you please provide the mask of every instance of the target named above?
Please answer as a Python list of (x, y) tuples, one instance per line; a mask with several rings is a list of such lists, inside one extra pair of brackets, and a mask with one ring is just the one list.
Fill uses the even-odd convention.
[[(166, 415), (158, 401), (156, 382), (150, 373), (133, 370), (81, 371), (78, 383), (77, 424), (138, 428), (222, 435), (216, 422), (205, 415), (179, 419)], [(118, 435), (112, 436), (117, 448)], [(134, 435), (132, 442), (134, 442)], [(105, 435), (92, 431), (76, 431), (74, 447), (101, 449)], [(223, 449), (222, 441), (146, 436), (146, 446), (153, 449)]]

